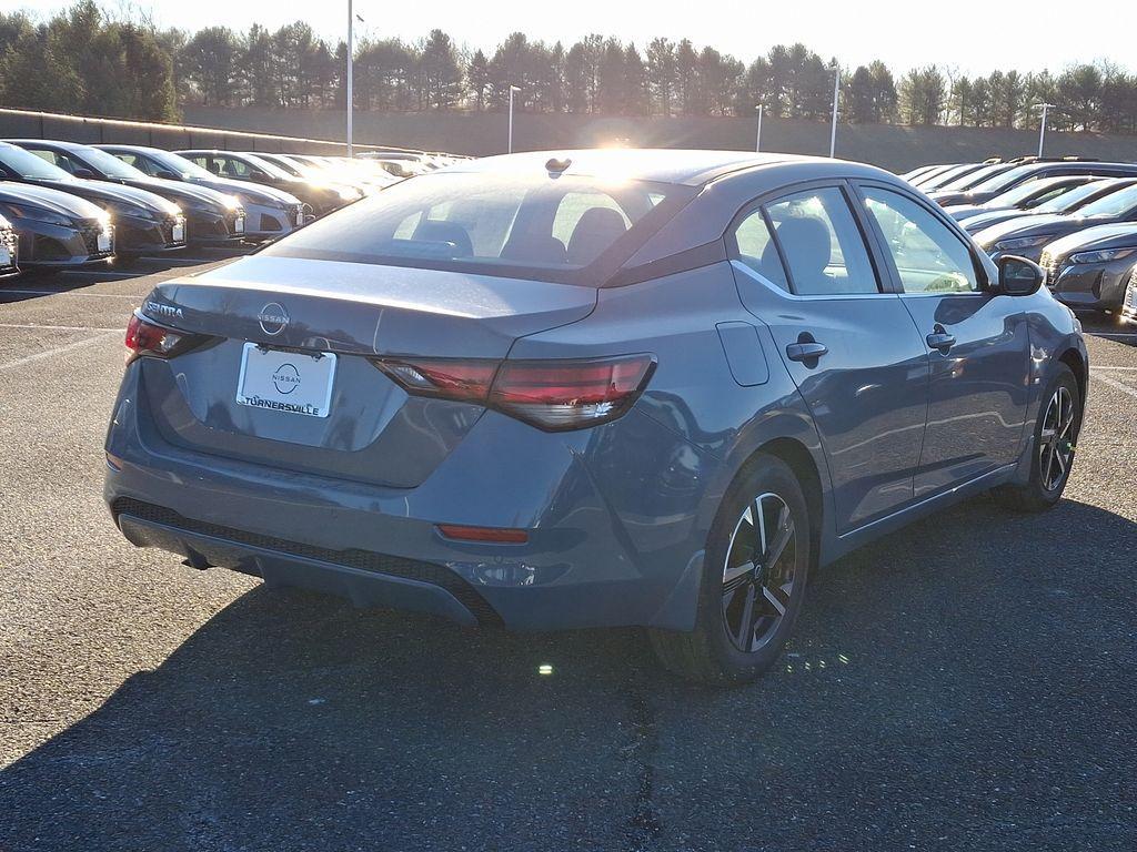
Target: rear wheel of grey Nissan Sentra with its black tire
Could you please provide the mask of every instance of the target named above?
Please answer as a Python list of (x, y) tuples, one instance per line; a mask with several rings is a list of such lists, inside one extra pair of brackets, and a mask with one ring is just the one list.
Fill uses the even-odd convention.
[[(766, 519), (761, 528), (747, 526), (746, 512), (757, 517), (756, 506)], [(782, 525), (783, 508), (789, 521)], [(695, 630), (648, 630), (661, 662), (687, 679), (719, 685), (748, 683), (769, 669), (805, 600), (812, 561), (810, 524), (805, 494), (789, 466), (772, 456), (752, 459), (727, 491), (711, 526)], [(772, 554), (786, 538), (780, 558), (769, 560), (772, 565), (758, 565), (766, 559), (746, 560), (747, 552), (756, 552), (748, 551), (749, 534), (756, 533), (757, 542), (770, 528), (764, 553)], [(757, 567), (737, 574), (745, 565)], [(747, 600), (752, 610), (746, 609)], [(756, 620), (747, 628), (745, 619), (754, 610)]]

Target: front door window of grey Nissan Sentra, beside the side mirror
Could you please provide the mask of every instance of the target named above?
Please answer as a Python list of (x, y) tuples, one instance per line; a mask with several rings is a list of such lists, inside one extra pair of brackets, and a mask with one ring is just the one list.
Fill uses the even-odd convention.
[(889, 190), (865, 187), (864, 197), (885, 235), (905, 293), (979, 290), (968, 247), (930, 210)]

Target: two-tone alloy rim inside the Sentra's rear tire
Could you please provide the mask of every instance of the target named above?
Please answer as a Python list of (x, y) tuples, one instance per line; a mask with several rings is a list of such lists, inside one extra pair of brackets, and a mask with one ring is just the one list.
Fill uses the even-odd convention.
[(777, 494), (746, 507), (735, 525), (722, 571), (722, 616), (739, 651), (753, 653), (778, 630), (794, 594), (797, 524)]

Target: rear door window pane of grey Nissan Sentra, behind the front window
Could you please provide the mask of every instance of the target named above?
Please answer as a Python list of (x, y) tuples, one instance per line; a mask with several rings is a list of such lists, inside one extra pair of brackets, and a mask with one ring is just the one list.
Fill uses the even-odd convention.
[(765, 209), (795, 293), (880, 292), (861, 229), (839, 189), (799, 192)]

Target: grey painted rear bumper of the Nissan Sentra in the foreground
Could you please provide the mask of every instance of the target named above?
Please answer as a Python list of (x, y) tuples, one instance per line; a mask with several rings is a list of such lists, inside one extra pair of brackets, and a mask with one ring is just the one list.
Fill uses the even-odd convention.
[[(490, 411), (426, 482), (395, 488), (169, 444), (136, 367), (107, 437), (105, 498), (138, 545), (458, 624), (694, 626), (715, 462), (645, 415), (549, 434)], [(659, 469), (630, 471), (634, 458)], [(439, 523), (521, 527), (529, 542), (454, 541)]]

